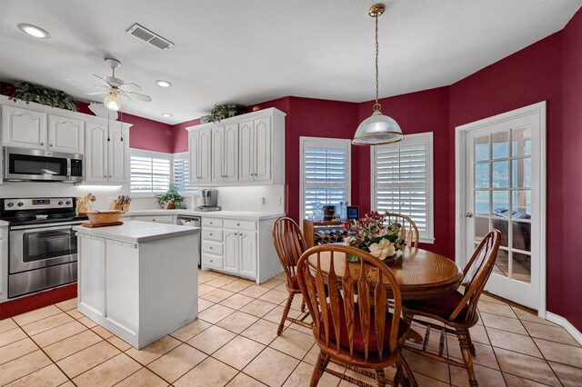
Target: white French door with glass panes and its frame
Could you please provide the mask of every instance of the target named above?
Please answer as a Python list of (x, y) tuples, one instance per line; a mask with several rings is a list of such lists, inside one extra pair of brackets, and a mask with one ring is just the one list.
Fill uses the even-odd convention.
[(546, 103), (457, 127), (457, 259), (501, 232), (486, 290), (544, 313)]

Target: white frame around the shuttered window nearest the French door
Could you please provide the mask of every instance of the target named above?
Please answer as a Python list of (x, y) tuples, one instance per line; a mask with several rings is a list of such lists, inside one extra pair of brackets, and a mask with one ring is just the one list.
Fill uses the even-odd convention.
[(408, 142), (414, 141), (424, 141), (426, 144), (426, 236), (421, 236), (419, 241), (421, 243), (435, 243), (435, 205), (434, 205), (434, 180), (433, 180), (433, 170), (434, 170), (434, 159), (433, 159), (433, 133), (419, 133), (419, 134), (406, 134), (406, 138), (402, 142), (396, 144), (385, 144), (385, 145), (375, 145), (370, 149), (370, 203), (371, 208), (377, 210), (377, 197), (376, 197), (376, 156), (377, 148), (388, 147), (388, 146), (399, 146), (406, 144)]

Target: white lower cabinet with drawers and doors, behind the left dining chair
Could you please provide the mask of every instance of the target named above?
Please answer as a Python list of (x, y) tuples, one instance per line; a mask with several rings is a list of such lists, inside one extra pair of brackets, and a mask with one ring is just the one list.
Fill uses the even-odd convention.
[[(264, 283), (283, 271), (271, 240), (275, 219), (202, 218), (202, 269)], [(220, 238), (222, 236), (222, 238)]]

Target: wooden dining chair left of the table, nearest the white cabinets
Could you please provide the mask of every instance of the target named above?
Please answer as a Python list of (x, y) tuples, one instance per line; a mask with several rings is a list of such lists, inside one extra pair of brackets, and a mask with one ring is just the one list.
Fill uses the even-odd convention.
[(273, 224), (271, 235), (273, 237), (273, 244), (275, 244), (276, 254), (279, 256), (281, 265), (283, 265), (283, 270), (285, 270), (286, 289), (288, 293), (287, 303), (285, 304), (283, 316), (281, 317), (281, 323), (279, 323), (279, 327), (276, 331), (278, 336), (283, 332), (286, 321), (297, 323), (307, 328), (311, 327), (305, 322), (308, 316), (308, 313), (306, 313), (305, 300), (301, 303), (302, 314), (296, 319), (288, 317), (291, 303), (293, 303), (295, 295), (301, 293), (299, 283), (297, 282), (296, 266), (301, 254), (307, 250), (307, 245), (299, 226), (291, 218), (278, 218)]

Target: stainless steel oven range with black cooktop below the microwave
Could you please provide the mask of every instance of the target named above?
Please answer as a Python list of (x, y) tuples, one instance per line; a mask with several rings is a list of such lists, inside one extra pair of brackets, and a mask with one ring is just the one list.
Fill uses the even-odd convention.
[(0, 199), (9, 222), (8, 298), (76, 281), (75, 198)]

